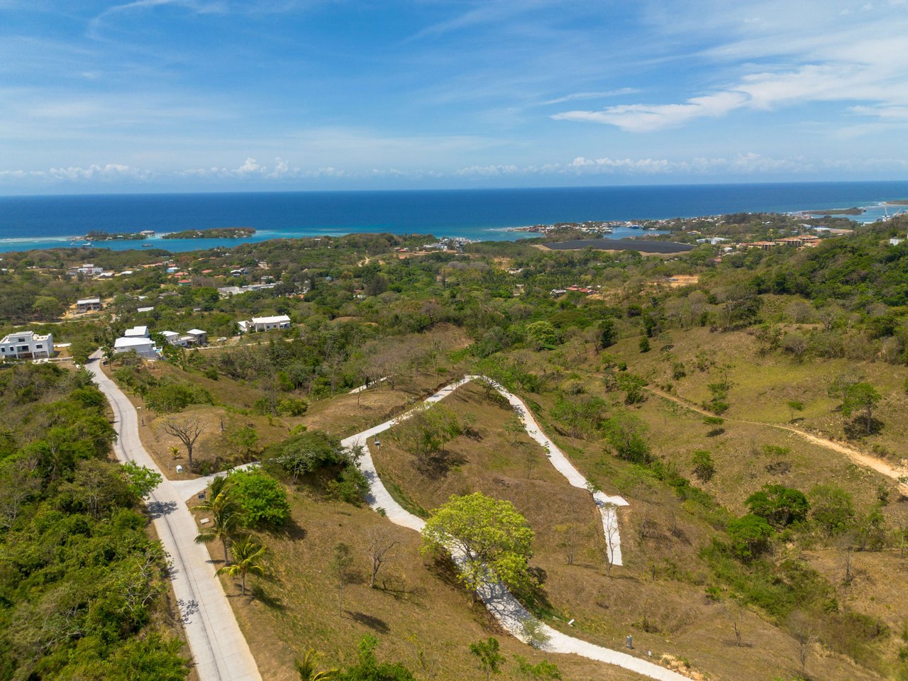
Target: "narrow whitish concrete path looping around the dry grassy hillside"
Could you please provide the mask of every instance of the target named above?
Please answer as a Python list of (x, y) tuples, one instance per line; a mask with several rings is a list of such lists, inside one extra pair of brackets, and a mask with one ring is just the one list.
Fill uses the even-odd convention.
[[(428, 403), (438, 402), (439, 400), (444, 400), (448, 397), (454, 390), (457, 390), (460, 386), (468, 383), (470, 380), (482, 379), (480, 376), (467, 376), (461, 380), (458, 380), (454, 383), (451, 383), (434, 395), (431, 395), (427, 400)], [(512, 406), (516, 406), (514, 400), (522, 407), (523, 412), (519, 413), (520, 418), (524, 421), (524, 426), (527, 428), (529, 436), (533, 439), (536, 439), (540, 444), (542, 440), (538, 438), (543, 438), (545, 441), (548, 441), (547, 451), (549, 458), (552, 459), (552, 464), (563, 474), (572, 485), (576, 487), (586, 487), (586, 480), (577, 472), (577, 469), (570, 464), (568, 459), (564, 457), (560, 449), (555, 446), (554, 442), (551, 442), (539, 429), (536, 421), (532, 418), (527, 409), (526, 405), (523, 404), (522, 400), (518, 397), (512, 395), (507, 390), (499, 386), (497, 383), (493, 382), (496, 390), (498, 390), (502, 395), (505, 395), (508, 398), (508, 402)], [(370, 429), (363, 430), (356, 435), (351, 435), (349, 438), (343, 439), (341, 442), (344, 447), (350, 449), (354, 447), (362, 447), (362, 456), (360, 458), (360, 469), (363, 474), (366, 476), (366, 479), (369, 481), (370, 493), (367, 496), (366, 500), (369, 502), (371, 508), (381, 508), (384, 512), (384, 515), (395, 525), (400, 525), (405, 528), (414, 529), (419, 532), (424, 526), (425, 521), (422, 518), (418, 518), (408, 512), (405, 508), (401, 507), (400, 504), (391, 497), (390, 492), (382, 484), (379, 474), (375, 469), (375, 463), (372, 460), (369, 449), (365, 447), (366, 442), (370, 438), (375, 438), (376, 435), (384, 432), (387, 429), (390, 429), (396, 422), (400, 419), (406, 419), (407, 414), (398, 417), (397, 419), (391, 419), (385, 421), (384, 423), (374, 426)], [(546, 445), (543, 445), (546, 447)], [(558, 452), (558, 456), (562, 461), (556, 463), (555, 452)], [(568, 469), (563, 469), (564, 465), (567, 464)], [(569, 471), (573, 471), (573, 474), (570, 474)], [(577, 478), (572, 479), (572, 475), (576, 475)], [(580, 480), (583, 480), (581, 483)], [(602, 494), (598, 492), (598, 494)], [(604, 495), (603, 495), (604, 497)], [(627, 504), (624, 499), (620, 499), (622, 502)], [(603, 513), (603, 523), (607, 522), (607, 513), (610, 512), (611, 518), (615, 518), (614, 515), (614, 506), (607, 505), (602, 506), (600, 504), (599, 498), (596, 498), (597, 507), (600, 512)], [(614, 502), (610, 502), (614, 503)], [(617, 522), (617, 520), (615, 520)], [(607, 535), (608, 536), (608, 535)], [(459, 562), (462, 557), (452, 554), (455, 562)], [(620, 554), (618, 554), (620, 558)], [(479, 597), (482, 599), (482, 602), (485, 604), (486, 608), (498, 620), (498, 623), (504, 627), (508, 633), (517, 637), (524, 643), (529, 643), (528, 636), (528, 623), (537, 621), (528, 610), (523, 607), (518, 599), (514, 597), (510, 591), (504, 585), (490, 584), (485, 587), (482, 587), (478, 591)], [(687, 676), (673, 672), (670, 669), (666, 669), (664, 666), (658, 666), (652, 662), (649, 662), (645, 659), (628, 655), (627, 653), (622, 653), (617, 650), (612, 650), (603, 646), (596, 646), (588, 641), (580, 640), (579, 638), (569, 637), (567, 634), (563, 634), (558, 631), (558, 629), (553, 629), (548, 627), (548, 625), (539, 623), (538, 633), (536, 635), (536, 644), (542, 650), (547, 650), (552, 653), (565, 653), (565, 654), (575, 654), (589, 659), (597, 660), (599, 662), (605, 662), (609, 665), (615, 665), (624, 667), (625, 669), (630, 669), (631, 671), (637, 672), (641, 676), (647, 676), (649, 678), (654, 678), (657, 681), (690, 681)], [(541, 634), (541, 636), (540, 636)], [(540, 639), (545, 639), (544, 642), (540, 644)]]

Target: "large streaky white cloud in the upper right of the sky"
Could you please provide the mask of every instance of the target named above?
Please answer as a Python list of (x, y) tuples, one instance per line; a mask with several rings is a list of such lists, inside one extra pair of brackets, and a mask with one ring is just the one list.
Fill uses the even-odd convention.
[[(722, 5), (719, 12), (709, 11), (709, 0), (704, 5), (703, 25), (682, 22), (663, 30), (728, 35), (725, 42), (688, 55), (728, 74), (726, 84), (682, 102), (618, 104), (551, 117), (646, 133), (740, 109), (775, 111), (839, 102), (858, 103), (844, 112), (884, 122), (902, 120), (908, 107), (908, 52), (903, 49), (908, 15), (894, 3), (865, 6), (860, 22), (830, 13), (824, 3), (791, 11), (773, 0), (748, 3), (746, 8)], [(804, 26), (809, 26), (806, 32)]]

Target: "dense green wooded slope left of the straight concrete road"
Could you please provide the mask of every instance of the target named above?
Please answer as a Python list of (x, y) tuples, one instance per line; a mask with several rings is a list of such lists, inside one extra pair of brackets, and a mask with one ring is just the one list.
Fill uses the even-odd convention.
[(187, 674), (138, 509), (153, 479), (108, 459), (105, 405), (86, 371), (0, 372), (0, 679)]

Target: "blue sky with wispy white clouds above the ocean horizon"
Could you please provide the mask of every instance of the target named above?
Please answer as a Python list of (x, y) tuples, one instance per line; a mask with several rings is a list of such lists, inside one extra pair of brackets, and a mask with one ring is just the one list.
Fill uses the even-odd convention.
[(0, 193), (908, 178), (908, 0), (0, 0)]

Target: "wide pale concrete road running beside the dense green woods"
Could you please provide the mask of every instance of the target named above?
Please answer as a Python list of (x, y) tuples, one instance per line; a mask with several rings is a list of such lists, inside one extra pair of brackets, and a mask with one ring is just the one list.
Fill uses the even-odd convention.
[[(114, 410), (117, 459), (134, 461), (160, 473), (139, 439), (132, 402), (104, 375), (98, 358), (86, 366)], [(221, 580), (214, 574), (208, 550), (195, 543), (198, 528), (183, 499), (180, 490), (164, 477), (147, 505), (164, 550), (173, 561), (173, 593), (180, 606), (192, 662), (201, 681), (262, 681)]]

